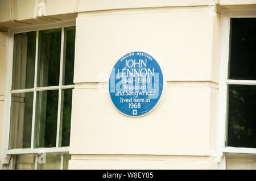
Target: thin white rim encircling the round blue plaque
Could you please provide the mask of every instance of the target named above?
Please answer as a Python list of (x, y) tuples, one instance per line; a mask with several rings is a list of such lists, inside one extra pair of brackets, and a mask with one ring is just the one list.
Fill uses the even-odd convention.
[[(132, 52), (142, 52), (142, 53), (146, 53), (146, 52), (144, 52), (144, 51), (142, 51), (142, 50), (131, 50), (131, 52), (128, 52), (128, 53), (126, 53), (126, 54), (129, 54), (129, 53), (132, 53)], [(126, 54), (123, 54), (123, 56), (125, 56)], [(148, 54), (149, 56), (151, 56), (151, 54), (149, 54), (149, 53), (146, 53), (146, 54)], [(119, 57), (119, 59), (114, 62), (114, 66), (115, 66), (115, 64), (117, 64), (117, 62), (118, 62), (123, 56)], [(154, 56), (151, 56), (151, 57), (154, 58)], [(128, 116), (128, 117), (133, 117), (133, 118), (135, 118), (135, 117), (143, 117), (143, 116), (148, 115), (148, 113), (150, 113), (151, 111), (155, 110), (156, 106), (158, 106), (158, 104), (160, 103), (160, 100), (162, 100), (163, 94), (164, 94), (165, 89), (166, 89), (166, 78), (165, 78), (165, 75), (164, 75), (164, 71), (163, 71), (162, 65), (159, 64), (159, 61), (157, 61), (155, 58), (154, 58), (154, 60), (158, 63), (158, 65), (159, 65), (159, 67), (160, 67), (160, 70), (162, 71), (162, 75), (163, 75), (163, 89), (162, 89), (162, 94), (160, 95), (160, 98), (159, 98), (158, 102), (155, 104), (155, 106), (154, 106), (150, 111), (148, 111), (148, 112), (146, 112), (146, 113), (144, 113), (143, 115), (140, 115), (140, 116), (130, 116), (130, 115), (127, 115), (126, 113), (121, 112), (120, 110), (118, 110), (117, 107), (115, 107), (115, 104), (113, 103), (112, 98), (111, 98), (111, 96), (110, 96), (110, 92), (109, 92), (109, 79), (110, 79), (110, 75), (111, 75), (111, 73), (112, 73), (112, 70), (113, 70), (113, 68), (114, 68), (114, 66), (112, 66), (112, 69), (110, 70), (110, 74), (109, 74), (108, 86), (107, 86), (107, 87), (108, 87), (109, 99), (111, 100), (111, 102), (112, 102), (112, 104), (114, 105), (115, 109), (118, 110), (118, 112), (120, 112), (120, 113), (122, 113), (123, 115)]]

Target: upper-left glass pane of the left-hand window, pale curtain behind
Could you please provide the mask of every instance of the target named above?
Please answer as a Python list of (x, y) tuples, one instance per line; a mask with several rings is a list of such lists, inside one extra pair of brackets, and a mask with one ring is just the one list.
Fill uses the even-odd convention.
[(34, 87), (36, 32), (14, 35), (12, 89)]

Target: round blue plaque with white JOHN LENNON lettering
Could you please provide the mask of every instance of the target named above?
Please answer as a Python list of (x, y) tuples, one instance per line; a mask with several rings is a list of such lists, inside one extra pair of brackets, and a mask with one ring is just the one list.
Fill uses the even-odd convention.
[(146, 115), (158, 104), (162, 92), (162, 69), (150, 54), (130, 52), (114, 65), (109, 94), (114, 106), (123, 114)]

